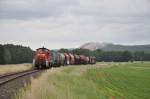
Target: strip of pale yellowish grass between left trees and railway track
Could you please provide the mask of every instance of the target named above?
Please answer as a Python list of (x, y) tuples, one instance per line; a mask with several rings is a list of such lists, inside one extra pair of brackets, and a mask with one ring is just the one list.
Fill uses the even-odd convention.
[(0, 75), (6, 73), (25, 71), (31, 68), (32, 68), (32, 64), (0, 65)]

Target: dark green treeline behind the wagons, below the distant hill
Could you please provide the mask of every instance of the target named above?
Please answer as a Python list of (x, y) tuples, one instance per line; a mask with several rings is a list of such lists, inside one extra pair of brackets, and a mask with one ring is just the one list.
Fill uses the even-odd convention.
[(127, 61), (150, 61), (150, 53), (144, 51), (130, 52), (130, 51), (102, 51), (97, 49), (90, 51), (87, 49), (60, 49), (59, 52), (70, 52), (73, 54), (83, 54), (86, 56), (95, 56), (97, 61), (105, 62), (127, 62)]

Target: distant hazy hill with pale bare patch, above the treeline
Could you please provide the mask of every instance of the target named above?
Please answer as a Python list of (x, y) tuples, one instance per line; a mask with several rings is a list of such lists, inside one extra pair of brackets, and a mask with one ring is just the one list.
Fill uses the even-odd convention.
[(96, 49), (101, 49), (103, 51), (144, 51), (144, 52), (150, 52), (150, 44), (149, 45), (118, 45), (118, 44), (112, 44), (112, 43), (95, 43), (90, 42), (83, 44), (80, 46), (81, 49), (89, 49), (91, 51), (94, 51)]

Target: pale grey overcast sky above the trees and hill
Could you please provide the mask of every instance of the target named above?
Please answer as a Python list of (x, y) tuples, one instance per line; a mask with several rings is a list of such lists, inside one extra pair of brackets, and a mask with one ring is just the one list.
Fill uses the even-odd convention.
[(0, 0), (0, 44), (150, 44), (150, 0)]

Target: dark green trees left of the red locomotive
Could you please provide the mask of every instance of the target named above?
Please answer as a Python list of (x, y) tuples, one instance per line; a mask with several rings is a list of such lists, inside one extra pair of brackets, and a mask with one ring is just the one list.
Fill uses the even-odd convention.
[(0, 64), (30, 63), (33, 53), (29, 47), (21, 45), (0, 45)]

